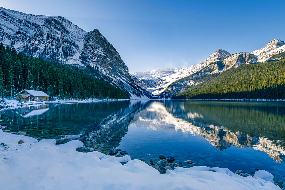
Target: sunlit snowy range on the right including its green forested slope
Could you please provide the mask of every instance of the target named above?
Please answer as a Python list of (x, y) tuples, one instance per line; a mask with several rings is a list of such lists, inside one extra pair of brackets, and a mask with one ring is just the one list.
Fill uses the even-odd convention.
[(133, 76), (140, 82), (137, 85), (159, 98), (284, 99), (284, 58), (284, 41), (274, 39), (253, 52), (231, 54), (217, 49), (199, 65), (138, 71)]

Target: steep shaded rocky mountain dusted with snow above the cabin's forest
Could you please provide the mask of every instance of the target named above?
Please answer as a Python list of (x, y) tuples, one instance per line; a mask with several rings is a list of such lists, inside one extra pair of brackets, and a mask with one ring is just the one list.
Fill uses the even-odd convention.
[(86, 32), (64, 17), (30, 15), (0, 7), (0, 43), (29, 56), (93, 68), (131, 97), (151, 97), (135, 85), (119, 53), (99, 30)]

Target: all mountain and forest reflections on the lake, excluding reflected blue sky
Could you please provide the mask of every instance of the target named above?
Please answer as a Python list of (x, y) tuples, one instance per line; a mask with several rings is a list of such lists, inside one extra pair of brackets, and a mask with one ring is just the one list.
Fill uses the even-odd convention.
[(119, 146), (133, 124), (158, 131), (190, 132), (219, 151), (231, 146), (253, 147), (282, 162), (284, 108), (284, 103), (262, 102), (105, 101), (3, 110), (0, 124), (34, 138), (54, 138), (61, 143), (78, 139), (104, 153)]

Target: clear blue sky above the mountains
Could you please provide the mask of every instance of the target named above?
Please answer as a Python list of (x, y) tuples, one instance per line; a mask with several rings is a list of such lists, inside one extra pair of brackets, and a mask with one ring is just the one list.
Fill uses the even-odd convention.
[(251, 52), (285, 40), (284, 1), (0, 0), (29, 14), (63, 16), (97, 28), (131, 73), (199, 64), (220, 48)]

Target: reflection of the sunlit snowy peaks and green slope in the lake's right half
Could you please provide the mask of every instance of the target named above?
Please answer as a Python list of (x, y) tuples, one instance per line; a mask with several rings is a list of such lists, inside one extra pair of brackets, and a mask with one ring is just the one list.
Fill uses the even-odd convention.
[(255, 102), (152, 102), (135, 115), (134, 125), (200, 135), (219, 151), (230, 146), (253, 147), (281, 162), (285, 158), (284, 106)]

